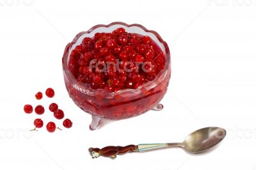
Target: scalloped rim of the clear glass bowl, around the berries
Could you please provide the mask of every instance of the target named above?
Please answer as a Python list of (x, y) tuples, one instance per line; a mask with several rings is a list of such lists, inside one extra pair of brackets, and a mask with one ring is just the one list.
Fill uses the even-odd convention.
[[(156, 38), (159, 40), (159, 42), (163, 43), (164, 50), (166, 51), (166, 55), (164, 55), (165, 58), (166, 58), (166, 63), (165, 63), (164, 69), (161, 70), (161, 72), (159, 72), (156, 75), (156, 78), (153, 81), (149, 81), (149, 82), (139, 86), (137, 89), (120, 89), (118, 91), (111, 92), (111, 91), (108, 91), (106, 89), (88, 88), (88, 87), (85, 86), (85, 84), (77, 82), (74, 75), (72, 75), (72, 73), (68, 70), (68, 64), (67, 64), (69, 50), (71, 49), (72, 45), (74, 45), (77, 42), (77, 40), (80, 38), (80, 36), (82, 36), (84, 34), (89, 34), (98, 27), (111, 27), (111, 26), (117, 25), (117, 24), (118, 25), (123, 25), (125, 27), (134, 27), (134, 26), (140, 27), (141, 29), (143, 29), (143, 31), (145, 31), (147, 33), (154, 34), (156, 36)], [(72, 42), (68, 43), (67, 46), (65, 47), (62, 62), (63, 62), (63, 72), (64, 72), (64, 76), (66, 77), (66, 79), (67, 80), (70, 79), (75, 84), (74, 88), (79, 89), (82, 93), (86, 93), (86, 95), (92, 95), (92, 96), (97, 95), (97, 94), (102, 94), (102, 93), (108, 93), (108, 95), (110, 95), (112, 97), (115, 97), (115, 95), (122, 96), (123, 93), (130, 93), (129, 96), (135, 96), (135, 95), (138, 95), (140, 93), (142, 88), (147, 89), (148, 87), (150, 87), (150, 89), (151, 89), (152, 86), (156, 86), (157, 84), (159, 84), (159, 81), (162, 81), (168, 75), (166, 70), (170, 70), (170, 73), (172, 72), (172, 70), (171, 70), (171, 59), (170, 59), (170, 49), (168, 47), (168, 44), (161, 38), (161, 36), (156, 31), (148, 30), (147, 28), (145, 28), (144, 26), (142, 26), (140, 24), (125, 24), (124, 22), (112, 22), (111, 24), (108, 24), (108, 25), (98, 24), (98, 25), (93, 26), (90, 29), (88, 29), (88, 31), (82, 31), (82, 32), (78, 33), (75, 36), (75, 38), (72, 40)], [(132, 95), (132, 93), (133, 93), (133, 95)]]

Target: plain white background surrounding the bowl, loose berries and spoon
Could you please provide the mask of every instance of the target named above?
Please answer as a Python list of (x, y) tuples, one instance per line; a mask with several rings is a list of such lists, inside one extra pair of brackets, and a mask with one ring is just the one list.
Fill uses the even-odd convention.
[[(0, 0), (0, 169), (256, 169), (256, 1)], [(149, 111), (90, 131), (89, 114), (68, 97), (61, 57), (80, 31), (115, 21), (142, 24), (168, 43), (172, 78), (163, 111)], [(36, 101), (52, 87), (56, 96)], [(24, 104), (57, 102), (74, 126), (30, 133)], [(181, 149), (92, 159), (89, 147), (183, 141), (218, 126), (227, 138), (215, 150)]]

